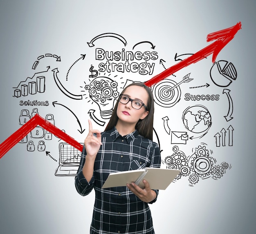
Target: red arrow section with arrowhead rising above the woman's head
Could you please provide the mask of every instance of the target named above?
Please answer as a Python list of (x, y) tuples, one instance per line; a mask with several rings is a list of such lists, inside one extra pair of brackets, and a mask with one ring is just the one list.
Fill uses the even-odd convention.
[(218, 53), (220, 53), (223, 47), (225, 47), (225, 45), (227, 45), (227, 43), (229, 43), (234, 38), (238, 30), (241, 28), (242, 28), (242, 24), (241, 22), (238, 22), (233, 27), (222, 29), (220, 31), (208, 34), (206, 38), (207, 42), (213, 41), (213, 40), (216, 40), (216, 41), (211, 43), (211, 45), (208, 45), (204, 49), (201, 49), (200, 51), (194, 53), (190, 57), (185, 58), (184, 60), (178, 62), (172, 67), (169, 67), (168, 69), (164, 70), (160, 74), (144, 82), (144, 84), (147, 85), (148, 87), (155, 85), (157, 82), (164, 80), (164, 78), (171, 76), (175, 72), (179, 71), (184, 67), (191, 65), (192, 63), (196, 63), (202, 60), (203, 58), (209, 56), (210, 54), (213, 54), (212, 62), (214, 63)]

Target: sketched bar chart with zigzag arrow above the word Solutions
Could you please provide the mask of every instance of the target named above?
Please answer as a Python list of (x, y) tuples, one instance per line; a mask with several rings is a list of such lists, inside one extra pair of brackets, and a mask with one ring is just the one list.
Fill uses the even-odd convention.
[(13, 87), (13, 89), (15, 89), (13, 97), (20, 98), (21, 96), (28, 96), (28, 94), (34, 95), (37, 93), (44, 93), (45, 76), (40, 76), (39, 74), (47, 72), (49, 68), (50, 67), (47, 67), (46, 71), (35, 73), (32, 78), (27, 77), (27, 79), (25, 81), (21, 81), (17, 87)]

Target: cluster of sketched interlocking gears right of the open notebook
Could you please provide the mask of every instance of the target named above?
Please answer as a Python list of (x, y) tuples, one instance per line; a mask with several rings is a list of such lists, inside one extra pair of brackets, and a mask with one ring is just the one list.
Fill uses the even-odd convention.
[(206, 179), (211, 177), (215, 180), (221, 178), (226, 170), (231, 168), (226, 162), (214, 165), (216, 159), (209, 155), (209, 151), (204, 143), (192, 149), (193, 154), (189, 157), (186, 157), (177, 145), (173, 147), (173, 152), (174, 154), (167, 156), (162, 160), (162, 163), (166, 164), (166, 168), (181, 170), (174, 181), (179, 180), (182, 176), (189, 176), (189, 186), (198, 183), (200, 178)]

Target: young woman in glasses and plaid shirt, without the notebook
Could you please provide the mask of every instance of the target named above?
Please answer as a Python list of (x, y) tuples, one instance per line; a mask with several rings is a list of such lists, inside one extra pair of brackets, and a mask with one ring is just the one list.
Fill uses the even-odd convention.
[(82, 196), (95, 190), (90, 234), (155, 233), (148, 203), (156, 201), (158, 190), (146, 180), (144, 189), (134, 183), (101, 189), (111, 172), (160, 167), (159, 147), (152, 141), (153, 115), (150, 88), (135, 82), (121, 92), (104, 132), (92, 129), (89, 120), (75, 186)]

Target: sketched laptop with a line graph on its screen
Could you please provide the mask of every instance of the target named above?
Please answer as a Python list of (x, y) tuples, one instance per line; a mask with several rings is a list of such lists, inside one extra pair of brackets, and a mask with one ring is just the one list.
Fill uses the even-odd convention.
[(75, 176), (79, 168), (81, 152), (68, 143), (60, 143), (59, 155), (59, 166), (55, 176)]

